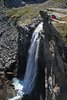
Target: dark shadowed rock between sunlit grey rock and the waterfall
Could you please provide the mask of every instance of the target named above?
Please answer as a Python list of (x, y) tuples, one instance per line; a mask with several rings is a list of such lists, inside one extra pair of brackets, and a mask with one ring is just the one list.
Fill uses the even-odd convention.
[(25, 73), (26, 62), (28, 57), (28, 49), (30, 46), (31, 35), (28, 28), (22, 26), (17, 26), (19, 31), (18, 35), (18, 72), (17, 76), (22, 77)]

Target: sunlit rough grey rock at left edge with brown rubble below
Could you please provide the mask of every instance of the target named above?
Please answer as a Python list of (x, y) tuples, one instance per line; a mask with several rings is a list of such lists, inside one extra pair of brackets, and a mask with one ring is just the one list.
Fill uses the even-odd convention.
[(8, 18), (6, 18), (4, 13), (4, 5), (3, 2), (1, 1), (0, 1), (0, 99), (5, 100), (9, 96), (8, 91), (10, 89), (8, 88), (10, 88), (9, 85), (10, 82), (6, 83), (8, 80), (5, 77), (4, 70), (5, 67), (10, 67), (12, 63), (16, 62), (16, 54), (18, 50), (18, 45), (17, 45), (18, 32), (16, 28), (13, 26), (13, 22), (12, 23), (8, 22)]

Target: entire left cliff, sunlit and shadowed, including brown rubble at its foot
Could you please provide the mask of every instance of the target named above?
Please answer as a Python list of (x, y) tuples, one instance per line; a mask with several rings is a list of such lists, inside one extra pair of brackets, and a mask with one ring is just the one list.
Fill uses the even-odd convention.
[[(3, 80), (0, 81), (0, 86), (3, 87), (0, 88), (0, 98), (2, 99), (5, 98), (4, 95), (8, 98), (14, 93), (10, 82), (8, 82), (8, 86), (4, 84), (8, 81), (6, 77), (12, 79), (15, 75), (19, 78), (24, 75), (32, 35), (31, 27), (28, 30), (28, 28), (19, 25), (15, 26), (15, 21), (15, 18), (8, 19), (5, 16), (3, 5), (0, 6), (0, 79)], [(14, 69), (18, 69), (18, 72), (13, 75)], [(9, 87), (12, 90), (8, 89)], [(11, 91), (10, 95), (8, 91)]]

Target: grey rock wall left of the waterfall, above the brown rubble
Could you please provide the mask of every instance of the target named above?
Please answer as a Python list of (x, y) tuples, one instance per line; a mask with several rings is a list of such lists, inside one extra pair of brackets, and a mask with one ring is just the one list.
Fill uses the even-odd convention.
[(22, 77), (31, 36), (40, 21), (23, 27), (15, 23), (16, 18), (7, 18), (3, 9), (3, 7), (0, 9), (0, 67), (6, 67), (6, 71), (17, 68), (17, 76)]

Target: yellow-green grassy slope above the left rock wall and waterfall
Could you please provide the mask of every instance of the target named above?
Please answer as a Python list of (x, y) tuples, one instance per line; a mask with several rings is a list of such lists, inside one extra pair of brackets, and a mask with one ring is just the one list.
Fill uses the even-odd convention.
[[(47, 0), (49, 3), (38, 3), (38, 4), (26, 4), (24, 7), (7, 9), (7, 16), (13, 17), (18, 16), (19, 21), (22, 23), (36, 18), (40, 10), (44, 10), (48, 7), (57, 7), (59, 3), (65, 0)], [(58, 5), (57, 5), (58, 4)]]

